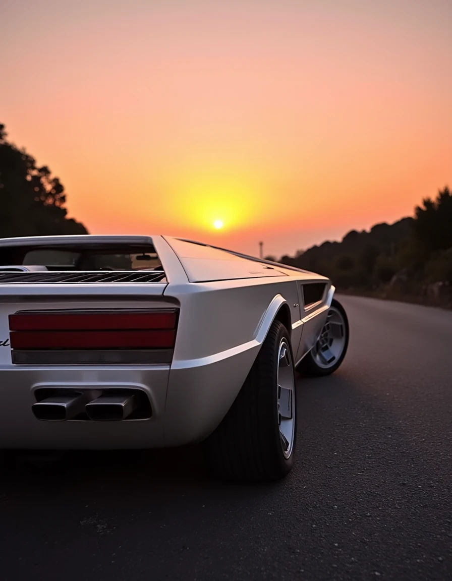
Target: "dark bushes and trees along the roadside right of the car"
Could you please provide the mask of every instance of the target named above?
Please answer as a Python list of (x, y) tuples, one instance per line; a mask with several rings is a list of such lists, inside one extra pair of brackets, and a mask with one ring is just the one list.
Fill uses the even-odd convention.
[(452, 192), (422, 200), (413, 217), (279, 261), (331, 278), (340, 292), (452, 307)]

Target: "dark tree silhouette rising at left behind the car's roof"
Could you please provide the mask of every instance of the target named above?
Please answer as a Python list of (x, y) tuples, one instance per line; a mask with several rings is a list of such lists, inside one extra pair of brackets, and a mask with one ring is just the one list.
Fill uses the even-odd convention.
[(83, 224), (67, 218), (59, 178), (6, 137), (0, 124), (0, 236), (88, 234)]

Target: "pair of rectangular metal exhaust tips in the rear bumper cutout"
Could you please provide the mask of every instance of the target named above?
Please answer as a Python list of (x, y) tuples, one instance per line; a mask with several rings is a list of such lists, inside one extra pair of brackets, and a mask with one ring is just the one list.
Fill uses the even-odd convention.
[(58, 395), (31, 406), (35, 417), (44, 421), (62, 422), (86, 413), (95, 421), (121, 421), (137, 409), (137, 397), (131, 395), (101, 395), (87, 390), (82, 393)]

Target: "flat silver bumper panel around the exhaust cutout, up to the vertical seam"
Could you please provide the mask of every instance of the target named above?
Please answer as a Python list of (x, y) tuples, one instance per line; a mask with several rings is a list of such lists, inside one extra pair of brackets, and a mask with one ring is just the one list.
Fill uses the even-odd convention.
[[(0, 371), (0, 448), (121, 449), (163, 443), (169, 366), (159, 368), (17, 368)], [(46, 422), (34, 417), (35, 389), (141, 389), (152, 418), (134, 421)]]

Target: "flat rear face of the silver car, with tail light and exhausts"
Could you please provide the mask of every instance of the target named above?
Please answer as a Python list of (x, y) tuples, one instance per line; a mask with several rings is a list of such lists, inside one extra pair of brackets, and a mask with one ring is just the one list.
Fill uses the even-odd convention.
[(0, 272), (0, 447), (163, 445), (179, 317), (166, 282), (55, 274)]

